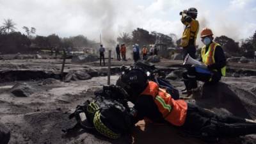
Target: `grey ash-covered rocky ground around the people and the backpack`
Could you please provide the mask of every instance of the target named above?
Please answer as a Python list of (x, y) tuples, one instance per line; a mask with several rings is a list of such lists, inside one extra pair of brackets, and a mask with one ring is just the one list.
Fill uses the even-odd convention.
[[(68, 115), (78, 104), (93, 97), (93, 92), (107, 84), (107, 67), (99, 67), (99, 61), (84, 64), (67, 60), (65, 75), (69, 81), (61, 81), (61, 59), (13, 60), (12, 55), (0, 60), (0, 122), (11, 130), (10, 144), (63, 144), (63, 143), (204, 143), (177, 131), (170, 125), (139, 122), (131, 136), (108, 140), (89, 131), (65, 135), (61, 129), (72, 127), (75, 120)], [(133, 61), (112, 61), (111, 84), (115, 84), (122, 65)], [(177, 88), (182, 61), (162, 60), (157, 67), (170, 73), (170, 82)], [(228, 63), (228, 76), (214, 90), (202, 87), (197, 99), (191, 99), (216, 113), (256, 119), (256, 63)], [(24, 88), (25, 95), (12, 92)], [(210, 90), (211, 89), (211, 90)], [(209, 91), (208, 91), (209, 90)], [(202, 97), (203, 95), (203, 97)], [(202, 98), (200, 98), (202, 97)], [(256, 135), (227, 138), (220, 143), (256, 143)]]

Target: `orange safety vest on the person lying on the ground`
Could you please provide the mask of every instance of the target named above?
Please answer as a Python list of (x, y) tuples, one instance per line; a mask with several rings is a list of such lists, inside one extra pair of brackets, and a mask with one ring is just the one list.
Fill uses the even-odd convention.
[(158, 84), (153, 81), (149, 81), (147, 88), (141, 95), (151, 95), (154, 98), (164, 120), (177, 126), (184, 124), (188, 109), (187, 102), (172, 99), (172, 96), (166, 90), (159, 88)]

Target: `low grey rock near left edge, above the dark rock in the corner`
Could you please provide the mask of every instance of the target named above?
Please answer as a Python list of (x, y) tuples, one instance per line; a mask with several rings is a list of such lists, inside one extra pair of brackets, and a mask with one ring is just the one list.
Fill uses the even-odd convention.
[(16, 97), (29, 97), (35, 90), (27, 83), (17, 83), (10, 89), (10, 92)]

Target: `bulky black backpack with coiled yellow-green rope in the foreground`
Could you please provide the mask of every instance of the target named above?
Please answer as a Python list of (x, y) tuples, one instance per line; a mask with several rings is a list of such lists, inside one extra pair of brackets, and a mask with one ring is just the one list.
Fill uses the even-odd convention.
[(127, 93), (118, 86), (104, 86), (103, 90), (95, 92), (93, 100), (87, 100), (69, 118), (76, 118), (77, 124), (71, 129), (81, 127), (86, 130), (97, 131), (111, 139), (129, 134), (132, 123), (132, 113), (124, 97)]

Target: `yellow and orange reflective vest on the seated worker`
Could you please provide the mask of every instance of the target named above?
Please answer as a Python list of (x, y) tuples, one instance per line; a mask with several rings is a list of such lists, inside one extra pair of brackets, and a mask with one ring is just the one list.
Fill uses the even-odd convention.
[[(215, 49), (218, 45), (220, 44), (216, 42), (212, 42), (212, 44), (209, 45), (207, 52), (205, 52), (206, 46), (204, 45), (204, 47), (202, 47), (201, 57), (202, 57), (202, 62), (205, 65), (212, 65), (213, 63), (215, 63), (214, 54), (215, 54)], [(217, 71), (217, 70), (214, 70), (214, 71)], [(226, 66), (221, 68), (221, 75), (226, 76)]]

